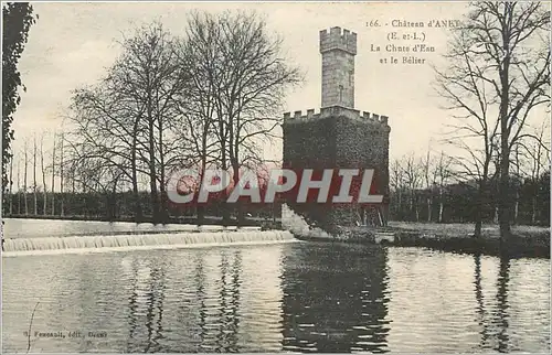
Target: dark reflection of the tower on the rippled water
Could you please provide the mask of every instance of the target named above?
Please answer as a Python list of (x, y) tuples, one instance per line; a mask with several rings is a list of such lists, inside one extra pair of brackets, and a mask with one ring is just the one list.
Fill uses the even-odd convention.
[(295, 251), (284, 269), (284, 349), (386, 352), (386, 249)]

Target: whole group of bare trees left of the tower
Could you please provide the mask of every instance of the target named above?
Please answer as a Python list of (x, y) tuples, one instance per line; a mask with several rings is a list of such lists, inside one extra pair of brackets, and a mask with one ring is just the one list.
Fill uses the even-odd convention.
[[(193, 12), (184, 29), (173, 35), (155, 22), (125, 36), (104, 77), (74, 90), (50, 157), (29, 143), (11, 162), (10, 191), (17, 174), (15, 191), (66, 196), (67, 215), (105, 208), (108, 215), (161, 223), (172, 213), (167, 198), (172, 172), (194, 168), (203, 174), (210, 166), (230, 171), (236, 182), (240, 170), (265, 163), (262, 146), (280, 121), (286, 90), (302, 80), (283, 57), (282, 40), (256, 13)], [(28, 176), (28, 165), (34, 175), (40, 165), (38, 179)], [(88, 201), (88, 209), (79, 198)], [(220, 207), (229, 220), (233, 212)], [(237, 207), (243, 219), (246, 207)]]

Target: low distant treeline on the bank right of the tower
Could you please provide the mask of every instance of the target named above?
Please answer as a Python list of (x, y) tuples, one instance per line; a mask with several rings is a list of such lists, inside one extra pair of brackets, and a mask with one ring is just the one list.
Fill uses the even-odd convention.
[[(509, 193), (513, 204), (512, 224), (550, 225), (550, 169), (535, 168), (529, 174), (516, 171)], [(522, 164), (518, 165), (521, 166)], [(541, 166), (542, 169), (538, 169)], [(477, 178), (466, 175), (455, 159), (427, 154), (418, 159), (408, 154), (395, 160), (391, 172), (390, 217), (392, 220), (427, 223), (498, 222), (498, 174), (492, 174), (481, 190)], [(468, 176), (468, 178), (466, 178)]]

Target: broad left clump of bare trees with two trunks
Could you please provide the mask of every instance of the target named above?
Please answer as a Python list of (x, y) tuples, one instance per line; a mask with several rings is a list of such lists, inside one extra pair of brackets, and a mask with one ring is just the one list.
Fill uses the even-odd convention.
[[(189, 92), (189, 62), (180, 42), (157, 22), (137, 29), (120, 44), (123, 53), (107, 75), (73, 93), (76, 128), (67, 141), (76, 143), (71, 144), (65, 165), (79, 166), (79, 160), (91, 160), (87, 166), (98, 166), (99, 161), (110, 173), (97, 184), (110, 184), (112, 172), (117, 182), (130, 182), (137, 222), (142, 215), (138, 182), (147, 176), (152, 219), (162, 222), (167, 217), (167, 172), (182, 162), (179, 153), (188, 148), (180, 143), (189, 130), (180, 131), (179, 123), (182, 98)], [(76, 179), (92, 189), (88, 174)]]

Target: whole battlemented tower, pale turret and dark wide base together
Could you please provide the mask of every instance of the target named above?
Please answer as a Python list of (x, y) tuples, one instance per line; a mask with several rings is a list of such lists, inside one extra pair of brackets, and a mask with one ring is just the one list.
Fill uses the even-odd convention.
[(287, 203), (296, 213), (325, 226), (386, 225), (391, 128), (386, 116), (354, 109), (357, 34), (340, 28), (320, 31), (320, 53), (321, 108), (319, 112), (308, 109), (306, 115), (301, 111), (293, 116), (284, 114), (283, 165), (298, 170), (374, 169), (372, 187), (375, 190), (371, 192), (383, 195), (383, 204)]

